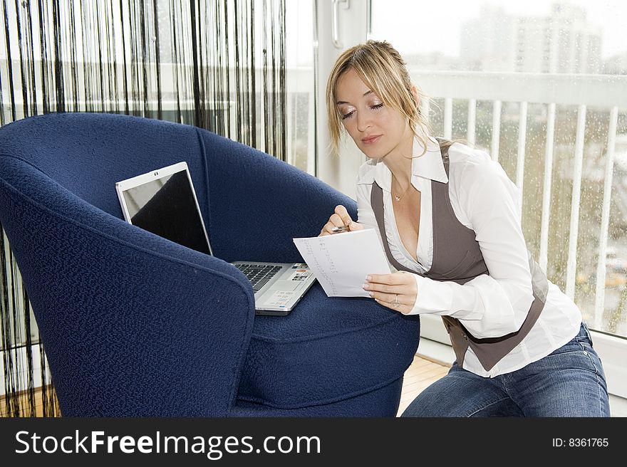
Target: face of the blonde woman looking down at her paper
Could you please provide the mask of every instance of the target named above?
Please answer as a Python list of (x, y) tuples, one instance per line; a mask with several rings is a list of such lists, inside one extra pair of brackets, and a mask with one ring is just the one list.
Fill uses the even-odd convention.
[(348, 135), (367, 157), (385, 157), (398, 147), (411, 151), (413, 135), (405, 118), (368, 89), (355, 70), (338, 79), (336, 105)]

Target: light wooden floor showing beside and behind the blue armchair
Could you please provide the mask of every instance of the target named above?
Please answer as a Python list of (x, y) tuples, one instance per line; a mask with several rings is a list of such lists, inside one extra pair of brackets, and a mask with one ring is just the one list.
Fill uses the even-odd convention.
[[(400, 394), (400, 405), (398, 415), (403, 413), (405, 408), (413, 399), (432, 382), (447, 374), (449, 367), (445, 364), (432, 362), (416, 355), (410, 367), (405, 372), (403, 379), (403, 392)], [(43, 416), (43, 404), (41, 402), (41, 389), (35, 391), (34, 401), (31, 405), (26, 394), (20, 399), (21, 416)], [(34, 414), (33, 414), (34, 409)], [(0, 397), (0, 416), (7, 416), (6, 401)]]

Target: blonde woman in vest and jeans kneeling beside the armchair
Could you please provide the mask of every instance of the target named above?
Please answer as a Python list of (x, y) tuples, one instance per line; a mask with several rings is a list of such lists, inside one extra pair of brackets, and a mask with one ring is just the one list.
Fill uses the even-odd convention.
[(368, 161), (358, 221), (337, 206), (321, 235), (376, 229), (397, 272), (363, 288), (440, 315), (457, 357), (403, 416), (609, 416), (581, 312), (527, 251), (517, 188), (485, 152), (432, 137), (421, 98), (387, 42), (348, 49), (328, 78), (331, 143), (346, 130)]

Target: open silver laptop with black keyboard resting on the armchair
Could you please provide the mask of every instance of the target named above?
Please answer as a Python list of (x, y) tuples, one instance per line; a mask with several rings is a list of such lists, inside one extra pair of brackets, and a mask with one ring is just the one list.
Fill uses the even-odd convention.
[[(135, 226), (213, 255), (186, 162), (115, 184), (124, 219)], [(288, 315), (316, 280), (305, 263), (232, 263), (249, 279), (257, 315)]]

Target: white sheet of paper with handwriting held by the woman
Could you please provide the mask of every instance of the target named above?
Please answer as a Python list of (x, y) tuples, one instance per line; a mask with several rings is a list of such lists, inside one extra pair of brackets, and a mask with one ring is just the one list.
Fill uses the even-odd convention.
[(391, 272), (374, 229), (294, 238), (294, 243), (328, 297), (370, 297), (363, 290), (366, 276)]

